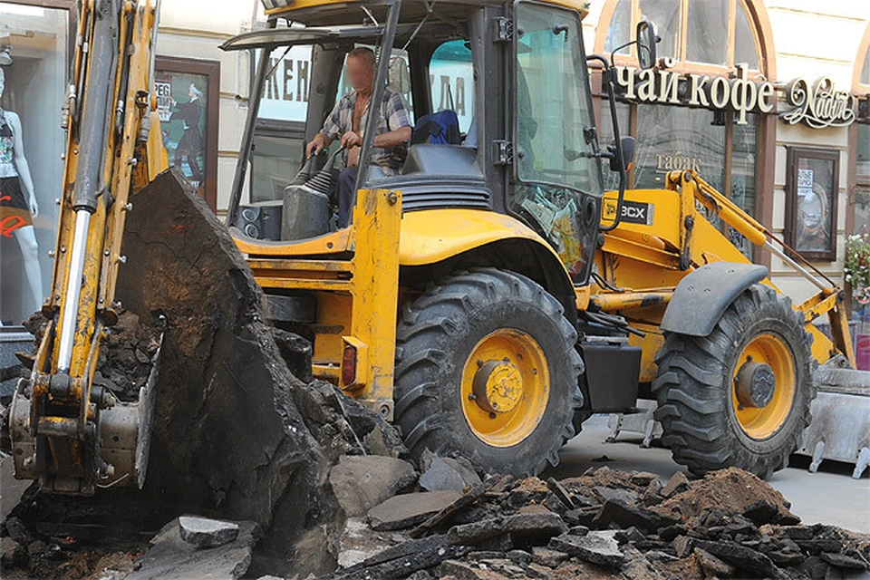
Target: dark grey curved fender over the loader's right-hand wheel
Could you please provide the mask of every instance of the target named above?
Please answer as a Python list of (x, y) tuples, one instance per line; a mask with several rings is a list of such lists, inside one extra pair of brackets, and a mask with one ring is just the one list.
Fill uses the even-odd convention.
[(749, 286), (768, 277), (768, 268), (756, 264), (712, 262), (684, 277), (662, 317), (669, 333), (707, 336), (725, 309)]

